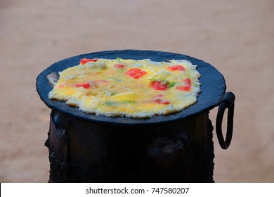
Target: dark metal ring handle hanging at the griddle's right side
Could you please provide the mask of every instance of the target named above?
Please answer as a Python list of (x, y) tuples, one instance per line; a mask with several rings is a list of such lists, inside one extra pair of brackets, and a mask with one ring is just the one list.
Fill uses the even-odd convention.
[[(232, 135), (233, 135), (233, 117), (234, 117), (234, 103), (235, 95), (228, 91), (226, 94), (223, 94), (222, 98), (218, 102), (218, 113), (216, 117), (216, 134), (218, 142), (223, 149), (227, 149), (230, 145)], [(228, 122), (226, 129), (226, 140), (223, 139), (222, 132), (222, 122), (223, 122), (223, 113), (226, 108), (228, 108)]]

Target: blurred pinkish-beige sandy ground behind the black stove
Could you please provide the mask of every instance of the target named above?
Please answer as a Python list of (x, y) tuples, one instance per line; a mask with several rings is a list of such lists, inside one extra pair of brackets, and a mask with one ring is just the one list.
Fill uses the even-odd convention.
[(236, 95), (230, 148), (214, 134), (215, 181), (274, 182), (273, 19), (272, 0), (0, 0), (0, 182), (48, 181), (50, 110), (37, 75), (63, 58), (111, 49), (214, 65)]

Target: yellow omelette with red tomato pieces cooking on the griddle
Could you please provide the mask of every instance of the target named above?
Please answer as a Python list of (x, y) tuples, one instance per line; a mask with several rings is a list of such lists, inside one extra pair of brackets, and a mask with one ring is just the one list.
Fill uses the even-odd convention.
[(145, 118), (197, 102), (200, 73), (186, 60), (88, 59), (59, 72), (48, 98), (85, 113)]

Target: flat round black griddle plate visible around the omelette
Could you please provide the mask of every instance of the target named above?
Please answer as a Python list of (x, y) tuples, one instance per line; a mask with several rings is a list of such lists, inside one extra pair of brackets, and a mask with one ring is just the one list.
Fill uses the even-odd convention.
[[(123, 59), (146, 59), (150, 58), (152, 61), (167, 61), (171, 59), (185, 59), (197, 66), (198, 72), (200, 72), (201, 93), (198, 96), (197, 103), (185, 108), (181, 112), (172, 113), (170, 115), (157, 115), (155, 117), (138, 119), (131, 117), (106, 117), (100, 115), (87, 114), (74, 108), (67, 106), (65, 102), (55, 101), (48, 98), (48, 93), (53, 87), (48, 83), (46, 76), (51, 72), (60, 72), (66, 68), (78, 65), (81, 58), (109, 58), (116, 59), (117, 57)], [(105, 122), (114, 124), (148, 124), (159, 122), (171, 122), (174, 120), (185, 119), (193, 115), (205, 113), (212, 108), (219, 105), (219, 101), (226, 91), (226, 82), (218, 70), (209, 63), (201, 61), (197, 58), (185, 56), (178, 53), (169, 53), (162, 51), (143, 51), (143, 50), (116, 50), (116, 51), (100, 51), (96, 53), (86, 53), (79, 56), (58, 61), (53, 63), (50, 67), (46, 68), (37, 77), (37, 91), (39, 96), (48, 108), (58, 110), (67, 115), (73, 115), (75, 117), (83, 118), (93, 122)]]

